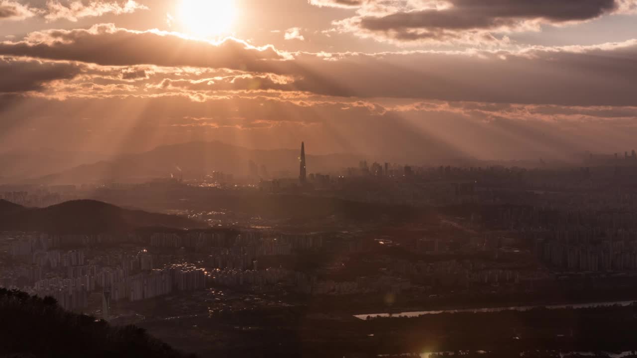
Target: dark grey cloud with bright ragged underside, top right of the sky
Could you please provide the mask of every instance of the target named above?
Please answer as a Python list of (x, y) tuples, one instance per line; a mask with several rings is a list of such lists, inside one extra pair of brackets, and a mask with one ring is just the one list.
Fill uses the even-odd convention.
[[(338, 6), (338, 2), (323, 0)], [(335, 22), (341, 32), (396, 43), (497, 43), (512, 32), (583, 22), (636, 9), (634, 0), (367, 0), (358, 15)], [(397, 4), (397, 5), (396, 5)], [(499, 35), (499, 36), (498, 36)]]

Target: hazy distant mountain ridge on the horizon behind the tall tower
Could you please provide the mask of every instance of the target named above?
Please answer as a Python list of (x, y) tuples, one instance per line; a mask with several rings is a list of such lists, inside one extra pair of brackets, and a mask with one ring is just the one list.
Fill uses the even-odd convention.
[[(194, 141), (164, 145), (140, 154), (120, 155), (111, 161), (84, 164), (60, 173), (39, 178), (38, 183), (143, 182), (151, 178), (168, 177), (171, 173), (199, 177), (211, 171), (247, 175), (248, 163), (269, 173), (287, 171), (296, 176), (299, 150), (256, 150), (229, 145), (220, 141)], [(308, 148), (311, 153), (311, 147)], [(329, 169), (357, 166), (359, 155), (306, 155), (308, 173), (325, 173)]]

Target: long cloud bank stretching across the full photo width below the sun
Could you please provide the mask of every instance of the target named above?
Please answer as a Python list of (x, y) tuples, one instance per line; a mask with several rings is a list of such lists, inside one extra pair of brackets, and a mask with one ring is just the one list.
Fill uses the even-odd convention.
[[(202, 101), (220, 91), (277, 91), (280, 96), (304, 93), (568, 106), (637, 105), (633, 96), (637, 93), (633, 63), (637, 40), (515, 51), (285, 54), (271, 46), (253, 47), (235, 39), (210, 43), (169, 32), (96, 25), (87, 30), (34, 32), (23, 41), (4, 41), (0, 54), (125, 67), (110, 75), (110, 83), (84, 78), (88, 74), (82, 80), (101, 85), (115, 84), (116, 80), (136, 82), (138, 90), (179, 92)], [(192, 73), (182, 77), (158, 73), (150, 78), (138, 71), (146, 65), (171, 71), (192, 68)], [(210, 69), (236, 73), (205, 73)], [(64, 92), (57, 93), (62, 96)]]

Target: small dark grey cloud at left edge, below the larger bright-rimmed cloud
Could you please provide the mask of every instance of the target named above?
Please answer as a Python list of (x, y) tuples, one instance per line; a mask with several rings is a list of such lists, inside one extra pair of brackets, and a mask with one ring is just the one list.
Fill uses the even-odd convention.
[(0, 57), (0, 93), (42, 90), (55, 80), (69, 80), (80, 73), (73, 64)]

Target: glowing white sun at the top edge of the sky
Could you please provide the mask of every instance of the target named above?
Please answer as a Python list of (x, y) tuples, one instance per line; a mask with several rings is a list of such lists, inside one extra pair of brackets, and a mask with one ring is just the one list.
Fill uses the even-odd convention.
[(228, 34), (234, 25), (234, 0), (180, 0), (180, 20), (188, 32), (202, 37)]

